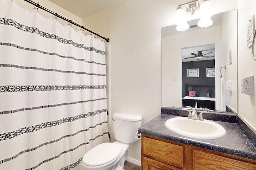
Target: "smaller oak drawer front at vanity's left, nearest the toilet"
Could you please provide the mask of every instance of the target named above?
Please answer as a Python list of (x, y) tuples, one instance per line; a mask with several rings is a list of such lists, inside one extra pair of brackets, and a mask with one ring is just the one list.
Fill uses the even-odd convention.
[(142, 140), (143, 154), (146, 154), (147, 157), (166, 164), (183, 166), (184, 148), (182, 146), (173, 145), (171, 143), (166, 143), (147, 137), (142, 138)]

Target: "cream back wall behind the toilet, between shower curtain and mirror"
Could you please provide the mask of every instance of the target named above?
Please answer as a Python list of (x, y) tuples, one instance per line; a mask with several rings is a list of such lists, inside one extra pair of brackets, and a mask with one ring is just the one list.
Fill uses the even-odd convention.
[[(110, 114), (142, 115), (143, 124), (160, 114), (161, 28), (171, 25), (178, 4), (184, 2), (188, 0), (124, 0), (83, 19), (85, 27), (110, 38)], [(211, 3), (219, 12), (237, 8), (237, 0)], [(130, 145), (128, 152), (140, 161), (140, 142)]]

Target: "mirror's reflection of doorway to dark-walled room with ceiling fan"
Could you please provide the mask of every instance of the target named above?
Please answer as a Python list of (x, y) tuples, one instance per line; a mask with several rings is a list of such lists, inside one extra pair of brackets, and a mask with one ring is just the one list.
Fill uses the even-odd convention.
[(215, 44), (185, 47), (182, 56), (182, 106), (215, 110)]

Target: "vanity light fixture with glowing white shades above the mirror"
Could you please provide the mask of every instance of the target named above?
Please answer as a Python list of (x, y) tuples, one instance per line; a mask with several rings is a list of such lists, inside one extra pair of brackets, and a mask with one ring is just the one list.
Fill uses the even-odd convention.
[(185, 5), (187, 6), (186, 12), (188, 15), (194, 15), (198, 13), (200, 16), (200, 20), (197, 24), (199, 27), (206, 28), (212, 25), (212, 20), (210, 18), (212, 16), (212, 6), (210, 0), (203, 0), (201, 6), (199, 1), (200, 0), (194, 0), (185, 4), (180, 4), (178, 6), (173, 19), (173, 25), (177, 25), (177, 31), (185, 31), (189, 28), (184, 10), (182, 9), (182, 6)]

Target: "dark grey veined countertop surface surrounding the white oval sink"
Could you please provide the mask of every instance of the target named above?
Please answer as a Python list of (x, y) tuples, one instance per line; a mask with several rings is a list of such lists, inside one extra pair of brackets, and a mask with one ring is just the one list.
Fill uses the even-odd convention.
[(256, 147), (236, 123), (214, 121), (226, 129), (224, 137), (219, 139), (194, 139), (173, 133), (164, 126), (164, 123), (173, 117), (178, 116), (160, 114), (140, 127), (138, 133), (256, 160)]

